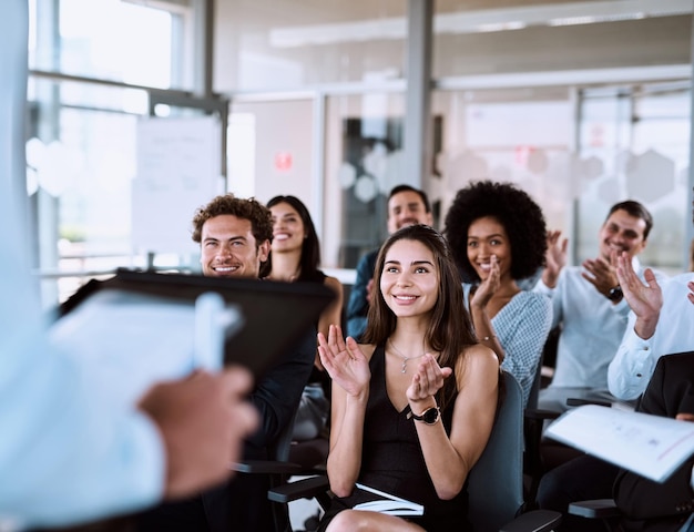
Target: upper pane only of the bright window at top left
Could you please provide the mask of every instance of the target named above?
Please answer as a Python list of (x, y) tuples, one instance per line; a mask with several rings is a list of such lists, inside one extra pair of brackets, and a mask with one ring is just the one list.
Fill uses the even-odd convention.
[[(161, 89), (192, 88), (192, 9), (181, 2), (31, 0), (29, 68)], [(164, 9), (162, 9), (164, 8)]]

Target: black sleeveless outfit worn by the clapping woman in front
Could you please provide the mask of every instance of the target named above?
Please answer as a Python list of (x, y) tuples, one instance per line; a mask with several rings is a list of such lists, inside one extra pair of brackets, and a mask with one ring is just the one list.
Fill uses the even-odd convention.
[[(427, 471), (415, 420), (408, 419), (409, 406), (398, 412), (386, 391), (385, 348), (379, 346), (369, 362), (371, 380), (364, 423), (364, 443), (359, 482), (425, 507), (422, 518), (408, 518), (426, 530), (468, 531), (468, 483), (449, 501), (439, 499)], [(446, 432), (450, 433), (453, 403), (441, 412)], [(364, 502), (360, 491), (336, 498), (319, 530), (341, 510)], [(325, 524), (324, 524), (325, 522)]]

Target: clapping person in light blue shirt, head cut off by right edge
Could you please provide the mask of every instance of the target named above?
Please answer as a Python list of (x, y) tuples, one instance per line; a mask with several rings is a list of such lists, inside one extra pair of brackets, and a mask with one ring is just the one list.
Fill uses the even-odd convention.
[(646, 389), (661, 356), (694, 350), (694, 273), (659, 283), (646, 269), (644, 284), (624, 254), (616, 273), (632, 311), (608, 382), (616, 398), (633, 400)]

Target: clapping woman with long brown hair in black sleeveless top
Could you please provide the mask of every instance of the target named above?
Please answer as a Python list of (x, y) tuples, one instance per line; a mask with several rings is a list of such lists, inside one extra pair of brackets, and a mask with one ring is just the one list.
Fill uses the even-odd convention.
[[(499, 361), (477, 342), (446, 239), (412, 225), (382, 245), (365, 344), (318, 335), (333, 378), (327, 472), (336, 494), (318, 530), (470, 530), (467, 478), (493, 424)], [(366, 485), (423, 507), (395, 516), (354, 507)], [(356, 487), (356, 488), (355, 488)]]

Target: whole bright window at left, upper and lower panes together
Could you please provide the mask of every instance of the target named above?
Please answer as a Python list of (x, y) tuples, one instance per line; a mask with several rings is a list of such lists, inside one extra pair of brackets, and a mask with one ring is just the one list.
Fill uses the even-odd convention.
[(27, 183), (47, 305), (84, 276), (145, 265), (131, 205), (149, 100), (129, 85), (191, 86), (191, 23), (186, 1), (30, 1)]

